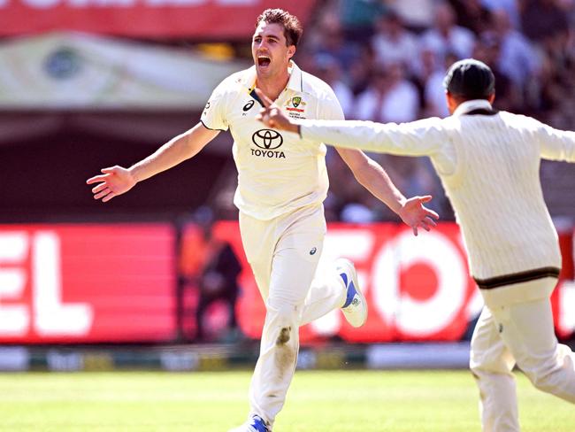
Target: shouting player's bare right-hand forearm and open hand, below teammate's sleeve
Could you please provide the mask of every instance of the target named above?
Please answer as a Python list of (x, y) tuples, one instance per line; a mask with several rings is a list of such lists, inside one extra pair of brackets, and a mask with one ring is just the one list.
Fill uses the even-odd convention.
[(336, 150), (349, 166), (357, 181), (374, 197), (377, 197), (393, 212), (397, 213), (403, 222), (413, 229), (414, 235), (418, 235), (418, 228), (429, 231), (436, 226), (435, 220), (439, 219), (439, 215), (424, 205), (432, 199), (431, 196), (407, 199), (395, 187), (380, 164), (372, 158), (368, 158), (364, 152), (337, 147)]

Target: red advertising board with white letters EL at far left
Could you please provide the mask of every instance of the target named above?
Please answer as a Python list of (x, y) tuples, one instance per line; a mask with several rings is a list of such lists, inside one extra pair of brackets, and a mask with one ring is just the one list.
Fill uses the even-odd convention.
[(176, 336), (170, 225), (0, 228), (0, 343)]

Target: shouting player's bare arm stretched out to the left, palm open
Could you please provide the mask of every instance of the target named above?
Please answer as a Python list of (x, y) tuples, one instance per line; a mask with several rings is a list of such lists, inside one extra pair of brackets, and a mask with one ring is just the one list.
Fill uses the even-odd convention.
[(180, 164), (196, 154), (210, 143), (219, 130), (211, 130), (204, 127), (200, 122), (187, 132), (175, 136), (165, 143), (148, 158), (129, 168), (122, 166), (111, 166), (103, 168), (102, 174), (96, 175), (88, 181), (88, 184), (95, 184), (92, 189), (94, 199), (102, 199), (103, 203), (110, 201), (134, 188), (138, 181), (149, 179), (149, 177), (161, 173), (173, 166)]

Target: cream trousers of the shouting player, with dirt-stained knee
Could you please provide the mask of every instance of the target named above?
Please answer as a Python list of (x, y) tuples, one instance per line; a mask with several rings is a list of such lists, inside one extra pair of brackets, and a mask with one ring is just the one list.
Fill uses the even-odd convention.
[(322, 204), (273, 220), (240, 212), (240, 230), (266, 308), (249, 389), (250, 415), (257, 414), (272, 425), (294, 375), (299, 327), (340, 308), (346, 287), (335, 267), (316, 277), (326, 235)]

